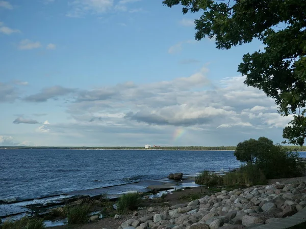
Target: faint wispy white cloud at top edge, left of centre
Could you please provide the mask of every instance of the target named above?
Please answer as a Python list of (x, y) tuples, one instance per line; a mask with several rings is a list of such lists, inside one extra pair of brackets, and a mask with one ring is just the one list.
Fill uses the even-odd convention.
[(67, 17), (83, 17), (86, 14), (101, 14), (113, 7), (113, 0), (74, 0), (70, 2)]

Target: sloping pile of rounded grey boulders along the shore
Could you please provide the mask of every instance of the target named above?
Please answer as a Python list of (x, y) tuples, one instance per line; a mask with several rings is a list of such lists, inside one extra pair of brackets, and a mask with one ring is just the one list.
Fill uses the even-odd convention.
[(190, 203), (129, 219), (118, 229), (250, 228), (292, 216), (306, 208), (305, 182), (223, 190)]

